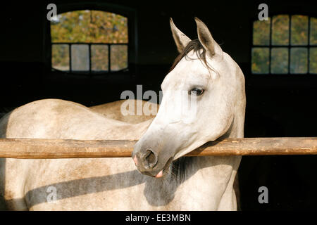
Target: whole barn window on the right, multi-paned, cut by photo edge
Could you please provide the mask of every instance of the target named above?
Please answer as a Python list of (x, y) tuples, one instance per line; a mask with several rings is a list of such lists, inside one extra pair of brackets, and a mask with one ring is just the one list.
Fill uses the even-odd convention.
[(317, 74), (317, 19), (274, 15), (253, 23), (253, 74)]

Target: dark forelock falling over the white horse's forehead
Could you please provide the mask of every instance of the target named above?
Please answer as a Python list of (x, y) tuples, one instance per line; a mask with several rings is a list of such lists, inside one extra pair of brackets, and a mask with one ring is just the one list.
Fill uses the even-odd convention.
[(178, 65), (180, 60), (182, 60), (182, 58), (188, 57), (187, 54), (192, 50), (194, 50), (194, 53), (196, 53), (199, 60), (202, 60), (206, 67), (211, 69), (206, 60), (206, 49), (204, 48), (204, 46), (202, 46), (199, 39), (194, 39), (192, 41), (189, 41), (189, 43), (184, 48), (182, 53), (180, 53), (178, 57), (175, 58), (174, 63), (168, 72), (172, 71), (175, 68), (175, 66)]

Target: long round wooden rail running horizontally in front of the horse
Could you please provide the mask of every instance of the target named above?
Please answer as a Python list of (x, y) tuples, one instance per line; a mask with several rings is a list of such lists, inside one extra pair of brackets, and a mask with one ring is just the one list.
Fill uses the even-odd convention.
[[(0, 139), (0, 158), (122, 158), (131, 157), (136, 141), (61, 139)], [(224, 139), (204, 144), (186, 156), (316, 155), (317, 137)]]

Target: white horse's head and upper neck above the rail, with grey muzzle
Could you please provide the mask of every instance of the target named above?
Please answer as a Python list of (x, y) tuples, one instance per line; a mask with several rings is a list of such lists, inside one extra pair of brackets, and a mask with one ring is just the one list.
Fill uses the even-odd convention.
[(243, 73), (208, 27), (195, 21), (198, 39), (191, 40), (170, 19), (180, 55), (161, 84), (159, 112), (132, 153), (142, 174), (161, 177), (173, 160), (208, 141), (243, 137)]

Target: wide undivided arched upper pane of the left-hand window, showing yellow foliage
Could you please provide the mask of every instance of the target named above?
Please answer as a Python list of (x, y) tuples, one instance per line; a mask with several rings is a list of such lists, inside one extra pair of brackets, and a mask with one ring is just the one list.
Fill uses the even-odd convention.
[(51, 41), (128, 43), (128, 18), (94, 10), (61, 13), (51, 22)]

